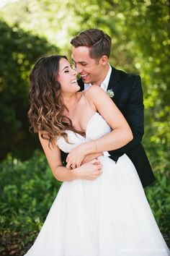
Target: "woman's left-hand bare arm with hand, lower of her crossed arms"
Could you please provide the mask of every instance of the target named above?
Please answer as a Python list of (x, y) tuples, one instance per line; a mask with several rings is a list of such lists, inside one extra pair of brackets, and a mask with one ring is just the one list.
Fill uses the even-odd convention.
[(69, 169), (63, 166), (61, 161), (61, 150), (57, 145), (50, 144), (48, 140), (42, 139), (39, 133), (40, 143), (45, 152), (53, 176), (58, 181), (66, 182), (73, 181), (75, 179), (88, 179), (94, 180), (102, 173), (102, 166), (99, 160), (94, 159), (89, 163), (84, 163), (82, 166)]

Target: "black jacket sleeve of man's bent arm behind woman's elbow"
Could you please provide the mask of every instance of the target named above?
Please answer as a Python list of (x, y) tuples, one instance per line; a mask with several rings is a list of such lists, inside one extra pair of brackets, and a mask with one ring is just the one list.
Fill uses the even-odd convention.
[(130, 90), (128, 103), (126, 105), (125, 119), (128, 121), (133, 132), (133, 140), (127, 145), (117, 150), (109, 151), (112, 156), (127, 153), (138, 145), (144, 134), (144, 105), (143, 105), (143, 90), (140, 76), (135, 77), (133, 88)]

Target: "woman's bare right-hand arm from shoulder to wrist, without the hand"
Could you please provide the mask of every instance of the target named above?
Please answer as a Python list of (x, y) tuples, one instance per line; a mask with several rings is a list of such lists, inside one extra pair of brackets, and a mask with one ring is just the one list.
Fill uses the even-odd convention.
[[(95, 140), (97, 152), (116, 150), (133, 140), (133, 133), (128, 122), (112, 99), (109, 98), (109, 95), (96, 85), (91, 86), (89, 89), (86, 92), (87, 100), (112, 128), (112, 132)], [(89, 148), (89, 153), (93, 153), (91, 152), (92, 148)]]

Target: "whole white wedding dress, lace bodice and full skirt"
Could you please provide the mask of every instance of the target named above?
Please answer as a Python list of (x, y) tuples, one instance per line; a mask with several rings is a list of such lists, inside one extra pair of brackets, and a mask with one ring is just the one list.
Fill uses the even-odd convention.
[[(66, 153), (110, 132), (98, 113), (89, 119), (86, 138), (67, 131), (58, 147)], [(169, 249), (127, 155), (117, 163), (100, 156), (96, 180), (63, 182), (35, 244), (27, 256), (167, 256)]]

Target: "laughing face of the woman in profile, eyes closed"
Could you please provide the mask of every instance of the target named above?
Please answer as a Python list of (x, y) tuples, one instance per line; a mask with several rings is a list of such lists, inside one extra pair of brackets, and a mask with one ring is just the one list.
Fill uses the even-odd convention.
[(61, 93), (76, 93), (80, 89), (76, 80), (77, 74), (66, 59), (60, 60), (57, 80), (61, 84)]

